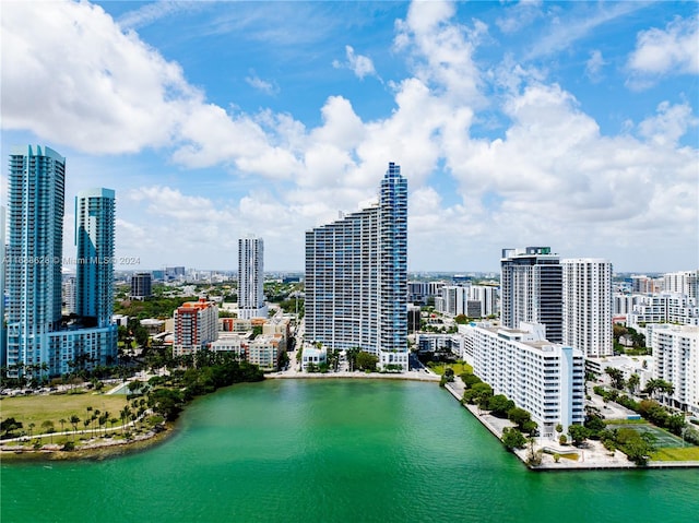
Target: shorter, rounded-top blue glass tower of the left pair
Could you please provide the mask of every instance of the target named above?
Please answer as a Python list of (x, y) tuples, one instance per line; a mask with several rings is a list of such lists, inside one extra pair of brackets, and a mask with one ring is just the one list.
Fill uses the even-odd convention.
[(114, 310), (114, 195), (91, 189), (75, 197), (75, 312), (94, 326), (109, 325)]

